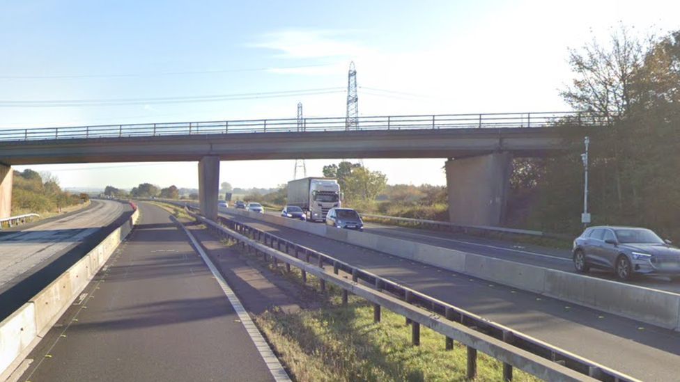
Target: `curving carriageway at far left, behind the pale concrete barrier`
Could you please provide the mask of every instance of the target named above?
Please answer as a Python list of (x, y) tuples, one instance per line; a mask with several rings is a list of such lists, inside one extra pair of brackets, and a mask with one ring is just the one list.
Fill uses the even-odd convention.
[(68, 269), (132, 214), (127, 203), (92, 200), (91, 206), (0, 232), (0, 319)]

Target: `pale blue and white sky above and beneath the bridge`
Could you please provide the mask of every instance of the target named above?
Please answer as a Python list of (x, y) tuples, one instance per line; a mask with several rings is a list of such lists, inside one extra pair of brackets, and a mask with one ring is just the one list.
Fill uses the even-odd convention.
[[(569, 111), (568, 48), (624, 24), (680, 29), (679, 1), (31, 1), (0, 3), (0, 129), (344, 116), (350, 61), (360, 116)], [(335, 93), (158, 104), (338, 88)], [(400, 94), (391, 93), (399, 92)], [(314, 93), (314, 92), (312, 92)], [(307, 175), (339, 160), (309, 160)], [(445, 184), (445, 159), (366, 159), (389, 184)], [(23, 170), (26, 166), (15, 166)], [(54, 164), (64, 187), (198, 184), (195, 162)], [(222, 161), (220, 182), (273, 187), (294, 161)]]

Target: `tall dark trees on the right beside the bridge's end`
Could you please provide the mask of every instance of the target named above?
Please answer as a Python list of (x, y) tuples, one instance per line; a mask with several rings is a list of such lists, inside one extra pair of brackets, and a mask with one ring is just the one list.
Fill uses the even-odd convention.
[[(640, 38), (621, 27), (605, 43), (570, 49), (569, 63), (564, 100), (610, 124), (590, 137), (592, 223), (642, 225), (680, 239), (680, 31)], [(510, 205), (530, 205), (527, 225), (580, 230), (583, 150), (579, 138), (563, 156), (515, 161)]]

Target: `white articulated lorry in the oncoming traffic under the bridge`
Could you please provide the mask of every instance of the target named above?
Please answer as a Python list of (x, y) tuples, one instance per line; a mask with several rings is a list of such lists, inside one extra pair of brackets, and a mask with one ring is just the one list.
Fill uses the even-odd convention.
[(309, 221), (324, 221), (333, 207), (341, 207), (340, 185), (324, 177), (305, 177), (288, 182), (288, 205), (300, 207)]

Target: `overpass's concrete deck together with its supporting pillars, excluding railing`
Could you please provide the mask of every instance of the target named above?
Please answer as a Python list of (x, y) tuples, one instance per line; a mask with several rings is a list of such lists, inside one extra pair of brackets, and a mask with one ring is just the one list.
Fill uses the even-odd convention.
[(0, 217), (9, 216), (11, 165), (198, 161), (201, 209), (217, 218), (219, 161), (338, 158), (455, 158), (447, 161), (451, 221), (502, 223), (512, 157), (569, 147), (588, 127), (417, 129), (75, 138), (0, 142)]

